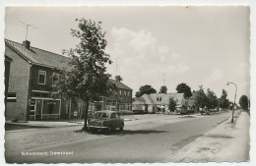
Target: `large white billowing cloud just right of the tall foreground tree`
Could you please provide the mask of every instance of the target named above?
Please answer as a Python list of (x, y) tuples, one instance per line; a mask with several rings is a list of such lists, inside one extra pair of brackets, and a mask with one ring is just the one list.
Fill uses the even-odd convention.
[(165, 79), (182, 78), (190, 70), (178, 53), (171, 52), (147, 29), (112, 28), (110, 37), (106, 52), (114, 64), (107, 70), (113, 76), (121, 75), (132, 88), (146, 83), (157, 87), (162, 83), (163, 73)]

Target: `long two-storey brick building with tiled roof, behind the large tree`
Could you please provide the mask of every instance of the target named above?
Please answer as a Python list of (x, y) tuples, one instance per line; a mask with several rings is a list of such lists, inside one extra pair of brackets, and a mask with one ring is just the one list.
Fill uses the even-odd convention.
[[(69, 57), (32, 47), (28, 40), (21, 44), (8, 39), (5, 40), (5, 57), (8, 57), (5, 67), (9, 76), (6, 78), (9, 79), (6, 83), (8, 84), (5, 111), (7, 120), (83, 117), (85, 103), (81, 100), (66, 100), (52, 86), (52, 74), (62, 68), (68, 68), (71, 60)], [(121, 95), (115, 95), (115, 92), (109, 97), (104, 97), (101, 102), (91, 103), (91, 109), (108, 109), (109, 104), (113, 105), (114, 101), (118, 103), (120, 109), (131, 109), (131, 88), (117, 81), (109, 82), (116, 84)]]

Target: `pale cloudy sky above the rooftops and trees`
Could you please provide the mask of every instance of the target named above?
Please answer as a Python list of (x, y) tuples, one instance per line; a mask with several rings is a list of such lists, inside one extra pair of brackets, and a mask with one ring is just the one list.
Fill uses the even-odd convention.
[[(237, 100), (250, 90), (250, 9), (246, 6), (165, 7), (8, 7), (5, 38), (28, 40), (33, 47), (61, 54), (78, 40), (71, 36), (75, 19), (102, 22), (106, 52), (114, 62), (107, 66), (133, 88), (151, 84), (176, 92), (179, 83), (192, 90), (199, 85), (218, 97), (227, 90)], [(164, 82), (163, 82), (164, 80)]]

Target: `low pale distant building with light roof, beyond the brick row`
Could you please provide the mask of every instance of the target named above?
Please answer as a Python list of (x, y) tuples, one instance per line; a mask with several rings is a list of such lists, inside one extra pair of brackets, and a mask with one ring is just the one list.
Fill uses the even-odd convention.
[[(185, 101), (184, 93), (152, 93), (143, 94), (140, 99), (133, 102), (133, 108), (143, 108), (148, 113), (163, 113), (168, 110), (169, 99), (173, 97), (176, 100), (176, 113), (182, 110), (182, 105)], [(143, 106), (144, 105), (144, 106)]]

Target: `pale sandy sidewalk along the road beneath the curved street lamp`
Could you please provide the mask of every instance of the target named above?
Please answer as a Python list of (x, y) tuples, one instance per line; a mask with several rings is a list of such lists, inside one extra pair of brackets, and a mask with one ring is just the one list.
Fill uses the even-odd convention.
[(187, 144), (174, 156), (174, 162), (244, 162), (249, 161), (250, 116), (237, 111), (230, 119)]

